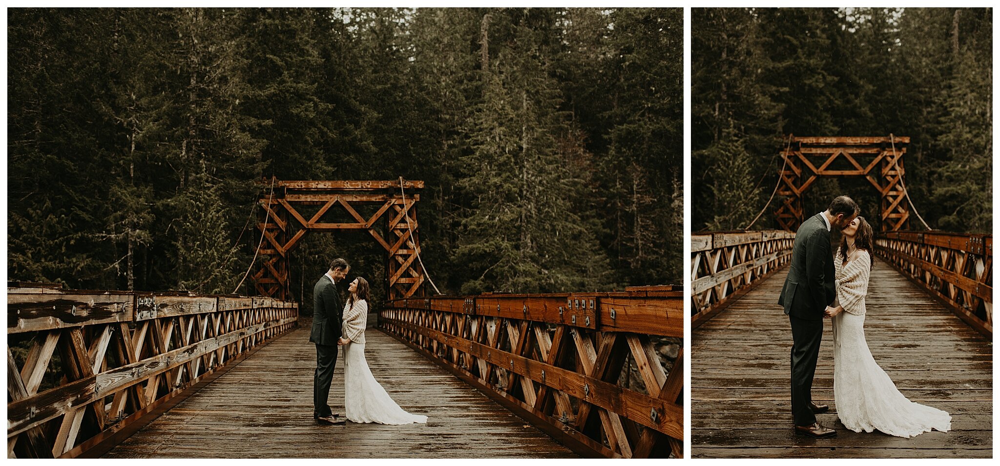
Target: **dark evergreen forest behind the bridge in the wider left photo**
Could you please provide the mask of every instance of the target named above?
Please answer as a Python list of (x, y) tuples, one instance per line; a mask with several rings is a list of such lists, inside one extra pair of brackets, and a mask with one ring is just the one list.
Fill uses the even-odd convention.
[[(680, 283), (682, 26), (679, 8), (9, 9), (9, 279), (254, 294), (236, 286), (262, 179), (402, 176), (426, 183), (442, 293)], [(296, 300), (337, 256), (382, 297), (370, 237), (310, 234)]]

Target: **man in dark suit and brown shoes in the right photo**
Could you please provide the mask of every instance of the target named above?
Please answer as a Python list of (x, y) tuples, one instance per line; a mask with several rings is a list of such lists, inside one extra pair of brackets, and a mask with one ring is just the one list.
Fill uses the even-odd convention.
[(860, 209), (847, 196), (838, 196), (825, 212), (802, 223), (792, 244), (792, 264), (778, 304), (792, 326), (792, 416), (795, 432), (812, 437), (832, 437), (837, 431), (816, 422), (828, 405), (812, 401), (812, 381), (823, 339), (823, 317), (836, 299), (830, 230), (843, 230)]

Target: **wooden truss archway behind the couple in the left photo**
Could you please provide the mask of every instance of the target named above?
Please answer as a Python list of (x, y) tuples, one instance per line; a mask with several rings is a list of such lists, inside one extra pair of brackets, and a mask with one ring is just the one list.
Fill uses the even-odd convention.
[[(423, 269), (417, 262), (420, 235), (416, 203), (423, 181), (265, 181), (273, 193), (260, 197), (263, 207), (257, 229), (265, 241), (261, 265), (253, 275), (261, 296), (289, 299), (289, 253), (309, 231), (365, 231), (388, 253), (386, 283), (390, 299), (422, 295)], [(405, 196), (404, 196), (405, 194)], [(359, 206), (378, 206), (364, 216)], [(312, 215), (304, 206), (320, 206)], [(308, 208), (308, 207), (306, 207)], [(324, 217), (347, 214), (348, 221)], [(385, 223), (385, 222), (388, 223)], [(412, 232), (412, 233), (411, 233)]]

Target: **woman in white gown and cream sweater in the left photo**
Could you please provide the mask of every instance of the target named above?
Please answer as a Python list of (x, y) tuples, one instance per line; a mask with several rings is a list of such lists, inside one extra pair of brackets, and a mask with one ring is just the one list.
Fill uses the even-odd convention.
[(351, 422), (409, 424), (427, 422), (427, 416), (403, 411), (372, 376), (365, 360), (365, 323), (368, 318), (368, 282), (358, 277), (348, 287), (344, 306), (344, 410)]

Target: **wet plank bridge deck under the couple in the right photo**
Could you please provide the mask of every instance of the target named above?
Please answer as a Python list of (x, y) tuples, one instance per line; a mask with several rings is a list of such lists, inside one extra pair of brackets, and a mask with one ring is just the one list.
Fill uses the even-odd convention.
[(992, 344), (888, 264), (872, 271), (865, 333), (879, 365), (910, 400), (952, 414), (950, 432), (904, 439), (855, 433), (833, 406), (826, 321), (813, 398), (833, 439), (796, 436), (789, 402), (788, 318), (776, 304), (785, 272), (692, 332), (691, 453), (706, 457), (992, 456)]

